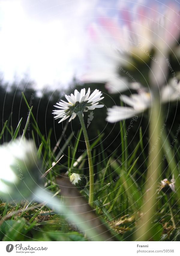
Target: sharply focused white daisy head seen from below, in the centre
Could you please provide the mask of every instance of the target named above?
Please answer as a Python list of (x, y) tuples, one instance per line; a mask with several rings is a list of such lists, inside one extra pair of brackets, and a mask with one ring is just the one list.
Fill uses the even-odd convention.
[(90, 95), (90, 88), (88, 88), (87, 93), (85, 93), (85, 88), (81, 89), (80, 93), (75, 90), (74, 94), (65, 95), (67, 102), (64, 100), (59, 101), (53, 110), (55, 119), (61, 119), (58, 123), (61, 123), (65, 119), (69, 118), (69, 122), (74, 119), (78, 112), (87, 112), (88, 110), (93, 110), (95, 108), (102, 108), (104, 105), (98, 105), (99, 101), (104, 99), (101, 91), (94, 90)]

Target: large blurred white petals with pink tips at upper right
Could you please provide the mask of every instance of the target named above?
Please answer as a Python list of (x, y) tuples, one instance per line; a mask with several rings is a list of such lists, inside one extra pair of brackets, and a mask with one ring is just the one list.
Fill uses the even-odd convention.
[[(164, 14), (155, 7), (154, 10), (139, 8), (133, 14), (123, 10), (120, 15), (120, 20), (100, 18), (97, 24), (92, 24), (89, 29), (93, 42), (88, 49), (90, 64), (82, 78), (84, 81), (106, 82), (110, 93), (131, 88), (126, 67), (131, 64), (133, 68), (136, 61), (162, 62), (162, 56), (167, 56), (180, 36), (180, 30), (175, 26), (180, 26), (180, 16), (173, 6), (167, 7)], [(158, 59), (152, 57), (152, 50), (155, 55), (158, 53)]]

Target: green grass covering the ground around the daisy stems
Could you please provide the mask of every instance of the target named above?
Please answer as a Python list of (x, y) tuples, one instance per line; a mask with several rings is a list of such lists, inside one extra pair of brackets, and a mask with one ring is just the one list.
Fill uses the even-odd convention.
[[(59, 192), (56, 184), (56, 177), (63, 172), (76, 172), (87, 175), (87, 152), (82, 152), (79, 156), (78, 145), (79, 140), (83, 139), (82, 130), (80, 129), (75, 134), (67, 138), (71, 147), (67, 144), (59, 134), (58, 147), (52, 147), (51, 136), (52, 130), (49, 131), (47, 138), (41, 134), (37, 122), (33, 115), (32, 108), (30, 109), (25, 96), (22, 94), (27, 107), (29, 116), (26, 126), (23, 128), (23, 134), (19, 134), (21, 121), (17, 123), (17, 127), (13, 132), (9, 128), (9, 121), (4, 123), (3, 130), (0, 133), (1, 143), (5, 140), (6, 133), (9, 133), (12, 140), (18, 135), (24, 137), (28, 126), (29, 119), (32, 119), (32, 138), (34, 143), (35, 137), (38, 136), (40, 145), (38, 147), (38, 159), (41, 163), (42, 174), (52, 167), (52, 162), (57, 161), (62, 152), (67, 150), (67, 156), (62, 157), (60, 164), (56, 164), (47, 174), (44, 188), (57, 195)], [(24, 117), (22, 117), (24, 118)], [(125, 122), (120, 122), (121, 153), (118, 150), (110, 157), (107, 157), (107, 152), (104, 150), (102, 139), (104, 134), (100, 135), (97, 131), (97, 139), (91, 144), (92, 155), (95, 171), (94, 185), (94, 204), (93, 208), (97, 216), (101, 218), (102, 223), (111, 228), (112, 235), (116, 235), (118, 240), (133, 240), (134, 232), (137, 228), (138, 219), (142, 215), (141, 209), (143, 206), (144, 184), (146, 182), (147, 156), (143, 147), (142, 129), (139, 131), (139, 141), (134, 147), (131, 154), (128, 154), (128, 138), (124, 141)], [(36, 134), (36, 136), (35, 136)], [(167, 137), (166, 135), (164, 135)], [(164, 140), (164, 152), (169, 143)], [(100, 147), (96, 145), (100, 143)], [(173, 152), (174, 150), (174, 152)], [(179, 175), (179, 144), (176, 141), (173, 150), (167, 157), (167, 162), (164, 162), (162, 177), (169, 178), (174, 173)], [(103, 153), (101, 153), (103, 152)], [(98, 155), (98, 156), (97, 156)], [(98, 163), (97, 163), (98, 159)], [(140, 162), (143, 159), (143, 164)], [(161, 180), (160, 179), (160, 180)], [(179, 186), (179, 179), (177, 182)], [(175, 215), (177, 227), (179, 227), (179, 190), (177, 194), (171, 194), (171, 205)], [(89, 185), (81, 191), (88, 202)], [(58, 196), (58, 198), (61, 198)], [(167, 196), (160, 192), (156, 194), (156, 212), (152, 222), (153, 232), (151, 240), (169, 240), (170, 232), (173, 230), (171, 216), (167, 204)], [(0, 202), (0, 239), (2, 241), (84, 241), (85, 236), (76, 228), (68, 223), (67, 217), (54, 212), (52, 209), (43, 204), (35, 202), (20, 201), (20, 202)]]

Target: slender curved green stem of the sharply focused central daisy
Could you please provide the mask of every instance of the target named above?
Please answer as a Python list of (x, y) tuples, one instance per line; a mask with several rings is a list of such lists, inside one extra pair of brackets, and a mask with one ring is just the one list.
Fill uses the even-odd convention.
[(91, 155), (91, 147), (89, 144), (89, 138), (87, 134), (87, 130), (85, 128), (85, 123), (83, 119), (82, 112), (77, 113), (79, 120), (81, 122), (82, 131), (85, 138), (85, 144), (87, 148), (87, 154), (88, 154), (88, 163), (89, 163), (89, 204), (92, 206), (93, 204), (93, 196), (94, 196), (94, 170), (93, 170), (93, 163), (92, 163), (92, 155)]

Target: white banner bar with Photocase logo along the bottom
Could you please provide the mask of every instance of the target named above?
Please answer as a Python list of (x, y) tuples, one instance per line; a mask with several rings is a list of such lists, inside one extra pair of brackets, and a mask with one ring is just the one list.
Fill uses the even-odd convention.
[(180, 242), (0, 242), (0, 251), (3, 256), (18, 254), (179, 256), (179, 246)]

